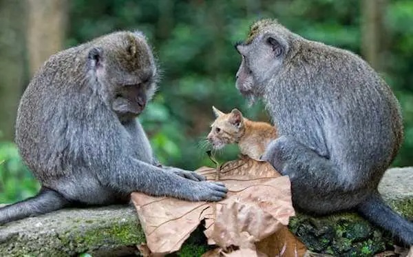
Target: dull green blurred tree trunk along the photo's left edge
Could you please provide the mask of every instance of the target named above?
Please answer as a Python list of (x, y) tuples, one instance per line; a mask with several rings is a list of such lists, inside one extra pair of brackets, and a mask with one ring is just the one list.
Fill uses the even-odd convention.
[(27, 82), (25, 5), (0, 0), (0, 141), (13, 140), (17, 105)]

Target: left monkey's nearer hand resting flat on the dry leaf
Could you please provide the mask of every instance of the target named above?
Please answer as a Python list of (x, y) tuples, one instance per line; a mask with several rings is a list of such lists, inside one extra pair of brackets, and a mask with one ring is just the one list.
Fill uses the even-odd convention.
[(187, 200), (189, 201), (221, 201), (225, 198), (226, 189), (224, 183), (221, 182), (210, 182), (210, 181), (200, 181), (198, 183), (193, 183), (191, 187), (187, 188)]

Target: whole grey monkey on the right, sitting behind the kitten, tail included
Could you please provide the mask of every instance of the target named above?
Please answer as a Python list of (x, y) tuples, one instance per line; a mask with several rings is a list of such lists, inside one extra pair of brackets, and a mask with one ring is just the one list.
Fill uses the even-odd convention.
[(356, 54), (257, 21), (235, 48), (237, 89), (266, 104), (279, 138), (262, 156), (290, 177), (298, 209), (361, 214), (413, 245), (413, 223), (383, 203), (377, 185), (403, 141), (399, 103)]

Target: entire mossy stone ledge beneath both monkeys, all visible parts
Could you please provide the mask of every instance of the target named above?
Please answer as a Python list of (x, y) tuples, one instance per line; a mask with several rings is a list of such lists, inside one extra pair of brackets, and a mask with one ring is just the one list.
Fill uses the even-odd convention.
[[(397, 212), (413, 220), (413, 167), (389, 169), (379, 187)], [(290, 229), (315, 252), (334, 256), (372, 256), (392, 243), (390, 236), (355, 213), (312, 217), (298, 214)], [(179, 256), (210, 249), (202, 229)], [(0, 256), (126, 256), (145, 242), (134, 207), (115, 205), (64, 209), (0, 227)]]

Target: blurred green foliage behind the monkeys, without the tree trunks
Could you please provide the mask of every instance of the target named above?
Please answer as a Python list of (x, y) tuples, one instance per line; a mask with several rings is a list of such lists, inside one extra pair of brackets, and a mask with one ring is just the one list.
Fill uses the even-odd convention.
[[(413, 165), (413, 1), (387, 3), (383, 76), (401, 103), (405, 123), (405, 141), (394, 165)], [(235, 89), (240, 56), (233, 43), (246, 37), (256, 19), (276, 18), (303, 37), (361, 54), (357, 0), (73, 0), (69, 12), (67, 47), (114, 30), (138, 29), (147, 34), (162, 80), (139, 119), (160, 161), (186, 169), (212, 165), (202, 147), (214, 119), (211, 105), (223, 111), (237, 107), (251, 119), (268, 120), (262, 104), (248, 107)], [(236, 147), (226, 147), (220, 158), (228, 160), (236, 154)], [(0, 167), (2, 172), (8, 163)], [(7, 170), (6, 180), (14, 182), (8, 182), (4, 191), (6, 180), (1, 174), (5, 194), (0, 201), (14, 201), (35, 191), (37, 185), (30, 184), (27, 169)]]

